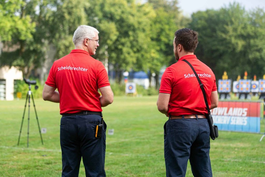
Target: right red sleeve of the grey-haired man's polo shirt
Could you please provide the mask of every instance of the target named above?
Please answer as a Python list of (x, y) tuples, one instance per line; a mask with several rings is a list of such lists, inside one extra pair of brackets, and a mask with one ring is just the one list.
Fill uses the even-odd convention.
[(99, 63), (97, 68), (97, 84), (98, 88), (110, 86), (107, 70), (103, 63)]

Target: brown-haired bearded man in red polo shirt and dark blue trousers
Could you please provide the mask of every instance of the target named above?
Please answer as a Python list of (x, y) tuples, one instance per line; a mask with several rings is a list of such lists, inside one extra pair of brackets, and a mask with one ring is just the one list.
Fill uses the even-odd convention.
[(194, 176), (213, 176), (204, 96), (196, 75), (183, 61), (191, 63), (197, 72), (210, 109), (217, 107), (215, 75), (194, 55), (197, 45), (196, 31), (188, 28), (176, 31), (173, 46), (178, 62), (166, 68), (161, 79), (157, 108), (169, 116), (164, 125), (166, 176), (185, 176), (188, 159)]

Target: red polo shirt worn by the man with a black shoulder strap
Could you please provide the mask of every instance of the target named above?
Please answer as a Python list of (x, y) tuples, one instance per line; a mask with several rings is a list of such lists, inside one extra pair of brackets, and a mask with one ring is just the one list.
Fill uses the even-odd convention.
[(211, 92), (217, 90), (213, 71), (197, 59), (196, 55), (185, 55), (166, 68), (162, 75), (159, 93), (170, 94), (168, 115), (207, 114), (203, 94), (191, 67), (197, 72), (206, 92), (209, 107)]

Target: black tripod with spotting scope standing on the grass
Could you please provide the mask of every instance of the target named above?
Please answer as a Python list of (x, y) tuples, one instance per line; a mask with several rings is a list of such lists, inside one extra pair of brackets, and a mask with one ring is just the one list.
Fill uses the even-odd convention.
[[(25, 108), (24, 108), (24, 113), (23, 113), (23, 117), (22, 117), (22, 122), (21, 122), (20, 131), (19, 131), (19, 137), (18, 137), (17, 145), (19, 145), (19, 140), (20, 140), (20, 135), (21, 135), (21, 130), (22, 130), (22, 126), (23, 126), (23, 120), (24, 120), (24, 116), (25, 116), (25, 110), (26, 110), (26, 106), (27, 106), (28, 99), (29, 99), (29, 108), (30, 108), (30, 95), (32, 97), (32, 101), (33, 101), (33, 105), (34, 105), (34, 110), (35, 110), (35, 114), (36, 114), (36, 119), (37, 119), (38, 127), (39, 127), (39, 120), (38, 120), (38, 116), (37, 116), (37, 112), (36, 112), (36, 107), (35, 107), (35, 103), (34, 103), (34, 99), (33, 99), (33, 94), (31, 92), (31, 85), (30, 85), (30, 84), (36, 84), (36, 81), (29, 81), (29, 79), (27, 79), (27, 80), (24, 79), (24, 81), (27, 84), (29, 84), (29, 91), (28, 91), (27, 98), (26, 98), (26, 103), (25, 103)], [(29, 113), (28, 113), (28, 142), (27, 142), (27, 147), (29, 147)], [(39, 135), (41, 136), (41, 129), (40, 128), (39, 128)], [(42, 142), (42, 145), (43, 145), (42, 136), (41, 136), (41, 142)]]

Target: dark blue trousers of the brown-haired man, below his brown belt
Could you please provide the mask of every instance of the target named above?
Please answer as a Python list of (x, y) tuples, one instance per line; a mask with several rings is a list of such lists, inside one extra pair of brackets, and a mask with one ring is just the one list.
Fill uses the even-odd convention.
[(209, 136), (207, 119), (168, 120), (164, 125), (166, 176), (185, 176), (188, 159), (193, 176), (213, 176)]

